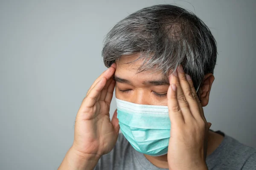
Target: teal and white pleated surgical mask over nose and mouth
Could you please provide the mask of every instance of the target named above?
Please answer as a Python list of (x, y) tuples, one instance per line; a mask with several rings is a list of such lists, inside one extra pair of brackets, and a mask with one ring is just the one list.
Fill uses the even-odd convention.
[(116, 99), (116, 106), (120, 130), (135, 150), (150, 156), (167, 154), (171, 129), (168, 106), (120, 99)]

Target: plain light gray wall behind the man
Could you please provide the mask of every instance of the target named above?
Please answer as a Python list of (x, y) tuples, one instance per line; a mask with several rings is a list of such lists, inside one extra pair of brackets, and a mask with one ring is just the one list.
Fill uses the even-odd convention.
[(81, 101), (106, 69), (105, 34), (128, 14), (161, 3), (187, 8), (210, 27), (219, 55), (205, 115), (213, 130), (256, 147), (255, 2), (0, 1), (0, 169), (58, 168)]

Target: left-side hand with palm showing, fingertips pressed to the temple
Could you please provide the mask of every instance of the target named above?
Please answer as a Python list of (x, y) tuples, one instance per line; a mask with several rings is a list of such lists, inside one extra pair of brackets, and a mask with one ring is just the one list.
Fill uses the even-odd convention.
[(84, 98), (76, 116), (75, 136), (72, 150), (86, 159), (100, 158), (109, 153), (116, 144), (119, 122), (116, 111), (112, 121), (109, 117), (115, 81), (112, 76), (116, 64), (96, 79)]

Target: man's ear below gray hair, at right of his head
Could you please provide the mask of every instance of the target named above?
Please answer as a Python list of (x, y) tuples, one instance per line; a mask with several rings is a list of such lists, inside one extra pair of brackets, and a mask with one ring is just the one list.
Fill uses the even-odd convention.
[(212, 73), (206, 74), (204, 76), (204, 81), (201, 83), (201, 86), (198, 90), (202, 107), (208, 105), (210, 91), (211, 91), (212, 83), (214, 79), (215, 77), (213, 76)]

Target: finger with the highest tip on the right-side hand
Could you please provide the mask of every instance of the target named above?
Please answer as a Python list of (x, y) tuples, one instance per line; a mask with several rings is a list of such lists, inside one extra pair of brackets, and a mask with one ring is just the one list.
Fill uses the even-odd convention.
[(191, 86), (187, 81), (186, 74), (184, 73), (182, 65), (178, 66), (177, 71), (178, 71), (180, 86), (182, 88), (186, 101), (189, 105), (189, 110), (192, 113), (192, 116), (194, 118), (199, 119), (201, 118), (201, 113), (200, 113), (201, 111), (199, 109), (197, 99), (195, 98), (197, 94), (191, 90)]

